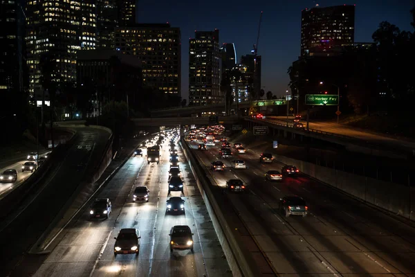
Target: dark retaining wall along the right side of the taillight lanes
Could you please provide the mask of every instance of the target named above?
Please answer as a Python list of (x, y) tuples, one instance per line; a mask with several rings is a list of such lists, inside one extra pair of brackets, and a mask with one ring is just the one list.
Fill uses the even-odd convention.
[(278, 161), (296, 166), (301, 172), (330, 186), (353, 195), (358, 199), (383, 208), (395, 215), (414, 220), (415, 192), (409, 186), (403, 186), (369, 177), (353, 175), (341, 170), (317, 166), (285, 156), (275, 155)]

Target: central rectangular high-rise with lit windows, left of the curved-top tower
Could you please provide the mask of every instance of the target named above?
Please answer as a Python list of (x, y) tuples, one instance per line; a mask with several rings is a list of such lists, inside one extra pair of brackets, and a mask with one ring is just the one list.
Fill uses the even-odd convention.
[(189, 105), (222, 102), (219, 30), (195, 31), (189, 43)]

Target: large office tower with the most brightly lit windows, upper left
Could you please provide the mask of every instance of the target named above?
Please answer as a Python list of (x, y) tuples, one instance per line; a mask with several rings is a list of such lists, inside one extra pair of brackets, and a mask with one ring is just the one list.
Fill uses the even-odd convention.
[(75, 82), (76, 53), (95, 48), (97, 10), (95, 0), (28, 1), (26, 44), (28, 48), (29, 92), (42, 97), (39, 60), (48, 53), (56, 62), (60, 82)]

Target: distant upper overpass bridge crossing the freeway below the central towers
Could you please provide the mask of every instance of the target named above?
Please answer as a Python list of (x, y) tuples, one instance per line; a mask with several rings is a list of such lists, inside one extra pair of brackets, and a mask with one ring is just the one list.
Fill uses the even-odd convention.
[[(279, 107), (284, 106), (282, 111), (286, 111), (285, 108), (286, 100), (275, 99), (275, 100), (257, 100), (257, 101), (246, 101), (240, 102), (238, 109), (249, 109), (250, 107), (257, 107), (259, 109), (266, 109), (267, 107)], [(235, 103), (232, 104), (230, 109), (237, 109)], [(152, 109), (150, 111), (151, 118), (156, 117), (167, 117), (167, 116), (191, 116), (195, 114), (201, 114), (203, 112), (215, 112), (221, 113), (225, 111), (225, 103), (205, 105), (205, 106), (187, 106), (187, 107), (171, 107), (167, 109)]]

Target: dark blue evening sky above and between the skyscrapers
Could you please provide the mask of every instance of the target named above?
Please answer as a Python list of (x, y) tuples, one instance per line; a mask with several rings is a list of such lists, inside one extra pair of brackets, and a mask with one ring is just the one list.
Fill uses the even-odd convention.
[(299, 55), (301, 10), (356, 3), (356, 42), (372, 42), (371, 35), (381, 21), (401, 30), (413, 31), (409, 10), (415, 0), (138, 0), (139, 23), (165, 23), (181, 28), (182, 97), (188, 98), (189, 37), (194, 30), (219, 29), (219, 39), (234, 42), (238, 60), (252, 50), (257, 39), (259, 14), (264, 11), (258, 54), (262, 56), (262, 86), (265, 91), (284, 95), (289, 81), (286, 71)]

